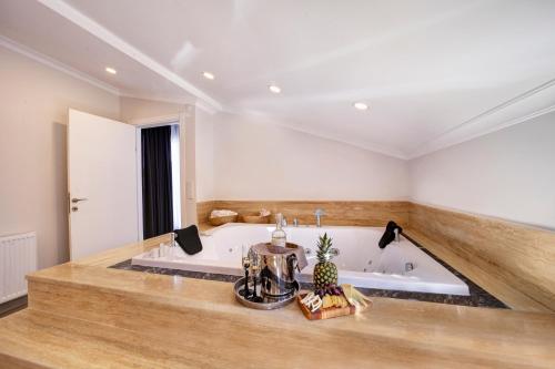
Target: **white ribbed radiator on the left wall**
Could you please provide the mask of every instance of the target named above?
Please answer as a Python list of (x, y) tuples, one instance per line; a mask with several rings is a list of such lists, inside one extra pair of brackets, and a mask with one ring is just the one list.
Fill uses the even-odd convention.
[(26, 275), (37, 270), (34, 232), (0, 237), (0, 304), (26, 295)]

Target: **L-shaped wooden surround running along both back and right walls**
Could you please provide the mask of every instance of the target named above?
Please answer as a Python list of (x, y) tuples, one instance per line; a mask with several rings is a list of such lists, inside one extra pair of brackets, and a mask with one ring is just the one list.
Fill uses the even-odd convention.
[[(405, 234), (513, 309), (555, 312), (555, 232), (497, 218), (411, 202), (212, 201), (199, 203), (201, 229), (214, 208), (238, 213), (266, 208), (287, 222), (385, 226), (397, 222)], [(272, 222), (274, 219), (272, 218)]]

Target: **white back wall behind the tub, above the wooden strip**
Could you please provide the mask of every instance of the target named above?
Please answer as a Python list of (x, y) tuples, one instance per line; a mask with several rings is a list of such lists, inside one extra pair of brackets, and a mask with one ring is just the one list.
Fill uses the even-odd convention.
[(407, 163), (282, 127), (260, 116), (218, 114), (218, 199), (403, 199)]

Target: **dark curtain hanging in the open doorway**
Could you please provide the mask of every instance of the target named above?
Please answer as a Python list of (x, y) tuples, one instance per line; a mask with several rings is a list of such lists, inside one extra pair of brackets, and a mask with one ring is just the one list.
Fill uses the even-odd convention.
[(173, 230), (171, 126), (141, 130), (143, 237)]

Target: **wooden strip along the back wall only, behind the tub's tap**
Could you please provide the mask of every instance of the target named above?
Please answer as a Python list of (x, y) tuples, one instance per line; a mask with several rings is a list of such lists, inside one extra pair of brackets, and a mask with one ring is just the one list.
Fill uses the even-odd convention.
[(258, 212), (265, 208), (273, 215), (282, 213), (291, 224), (297, 218), (300, 224), (315, 224), (314, 211), (322, 208), (325, 216), (323, 225), (355, 225), (383, 227), (389, 221), (406, 226), (408, 221), (408, 202), (347, 202), (347, 201), (214, 201), (198, 203), (199, 223), (208, 222), (214, 208), (231, 209), (239, 214)]

